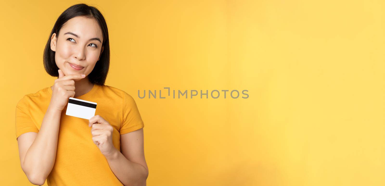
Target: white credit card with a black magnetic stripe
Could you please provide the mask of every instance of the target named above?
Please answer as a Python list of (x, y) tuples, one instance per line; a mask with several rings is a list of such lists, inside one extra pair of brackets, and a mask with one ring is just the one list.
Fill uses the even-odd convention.
[(89, 120), (95, 116), (96, 105), (95, 102), (69, 98), (65, 114)]

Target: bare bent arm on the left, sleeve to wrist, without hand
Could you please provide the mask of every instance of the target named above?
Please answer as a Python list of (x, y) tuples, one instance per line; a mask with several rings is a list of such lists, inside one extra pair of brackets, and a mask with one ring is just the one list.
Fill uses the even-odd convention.
[(24, 133), (17, 138), (20, 164), (33, 184), (44, 184), (54, 167), (61, 113), (49, 106), (39, 133)]

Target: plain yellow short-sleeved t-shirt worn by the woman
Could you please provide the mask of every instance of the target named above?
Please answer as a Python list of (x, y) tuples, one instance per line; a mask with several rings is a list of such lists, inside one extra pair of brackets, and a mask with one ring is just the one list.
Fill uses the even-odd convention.
[[(52, 95), (50, 87), (25, 95), (16, 106), (16, 138), (23, 133), (39, 132)], [(112, 143), (120, 151), (120, 135), (144, 127), (136, 102), (125, 91), (107, 85), (94, 85), (88, 93), (75, 97), (97, 103), (100, 115), (114, 127)], [(123, 185), (109, 167), (107, 159), (92, 141), (88, 120), (67, 116), (60, 118), (57, 153), (47, 184)]]

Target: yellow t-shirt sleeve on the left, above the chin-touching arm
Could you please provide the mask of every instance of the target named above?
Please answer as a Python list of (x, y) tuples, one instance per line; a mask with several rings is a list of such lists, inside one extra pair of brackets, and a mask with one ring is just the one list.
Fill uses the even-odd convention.
[(28, 115), (29, 106), (27, 96), (24, 96), (16, 105), (15, 126), (16, 139), (27, 132), (39, 132), (39, 129), (33, 123), (31, 117)]

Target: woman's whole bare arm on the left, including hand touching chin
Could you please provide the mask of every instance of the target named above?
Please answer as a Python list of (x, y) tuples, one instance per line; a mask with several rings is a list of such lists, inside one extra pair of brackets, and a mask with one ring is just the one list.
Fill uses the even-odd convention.
[(24, 133), (17, 138), (22, 169), (28, 180), (36, 185), (44, 184), (54, 167), (62, 110), (68, 99), (75, 96), (75, 81), (85, 78), (84, 74), (64, 75), (60, 69), (58, 73), (59, 77), (50, 87), (51, 101), (39, 132)]

